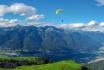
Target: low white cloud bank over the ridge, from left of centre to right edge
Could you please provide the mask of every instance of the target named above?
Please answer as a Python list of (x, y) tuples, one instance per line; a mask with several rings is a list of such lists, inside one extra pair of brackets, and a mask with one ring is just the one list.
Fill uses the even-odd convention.
[(92, 20), (89, 23), (67, 23), (67, 24), (57, 24), (57, 23), (46, 23), (46, 22), (30, 22), (28, 25), (34, 26), (54, 26), (57, 28), (63, 29), (81, 29), (86, 31), (104, 31), (104, 22), (97, 23), (96, 21)]

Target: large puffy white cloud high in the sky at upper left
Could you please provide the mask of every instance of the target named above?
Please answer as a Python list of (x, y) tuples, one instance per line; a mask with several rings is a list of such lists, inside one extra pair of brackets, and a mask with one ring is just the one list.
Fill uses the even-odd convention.
[(10, 6), (0, 5), (0, 16), (4, 16), (7, 13), (25, 16), (28, 20), (39, 20), (44, 16), (41, 14), (37, 14), (36, 8), (25, 5), (23, 3), (15, 3)]

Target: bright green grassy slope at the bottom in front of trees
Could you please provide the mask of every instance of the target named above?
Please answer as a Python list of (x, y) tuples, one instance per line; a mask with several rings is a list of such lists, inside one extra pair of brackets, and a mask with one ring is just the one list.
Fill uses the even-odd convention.
[(60, 61), (44, 65), (20, 66), (14, 70), (77, 70), (81, 65), (73, 61)]

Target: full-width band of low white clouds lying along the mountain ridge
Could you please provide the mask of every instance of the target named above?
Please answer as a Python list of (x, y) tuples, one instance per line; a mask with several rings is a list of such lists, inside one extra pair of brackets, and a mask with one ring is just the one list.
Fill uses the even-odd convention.
[(18, 19), (3, 19), (0, 18), (0, 26), (2, 27), (9, 27), (9, 26), (15, 26), (15, 25), (34, 25), (34, 26), (54, 26), (57, 28), (63, 28), (63, 29), (81, 29), (84, 31), (100, 31), (104, 32), (104, 22), (101, 22), (99, 24), (96, 24), (94, 20), (90, 21), (89, 23), (71, 23), (71, 24), (55, 24), (55, 23), (49, 23), (49, 22), (37, 22), (37, 21), (31, 21), (27, 22), (27, 24), (23, 24)]

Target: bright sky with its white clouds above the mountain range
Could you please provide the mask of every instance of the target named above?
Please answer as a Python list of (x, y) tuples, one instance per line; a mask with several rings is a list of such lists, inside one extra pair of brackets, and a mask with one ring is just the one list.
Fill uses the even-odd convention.
[[(59, 8), (64, 9), (64, 13), (56, 15)], [(0, 0), (0, 22), (2, 26), (17, 23), (102, 23), (104, 0)]]

